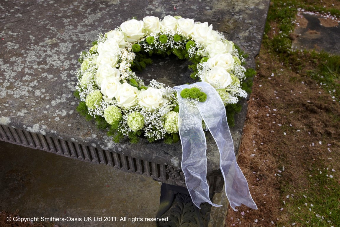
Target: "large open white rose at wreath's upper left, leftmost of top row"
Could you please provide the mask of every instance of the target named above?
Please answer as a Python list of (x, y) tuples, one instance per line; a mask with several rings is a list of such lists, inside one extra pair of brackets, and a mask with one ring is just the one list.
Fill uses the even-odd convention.
[(120, 29), (126, 35), (126, 41), (134, 43), (145, 35), (143, 26), (143, 21), (132, 19), (123, 22), (120, 26)]

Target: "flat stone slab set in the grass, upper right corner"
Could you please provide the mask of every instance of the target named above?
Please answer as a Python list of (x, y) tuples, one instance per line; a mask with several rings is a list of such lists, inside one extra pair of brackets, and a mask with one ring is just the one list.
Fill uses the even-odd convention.
[(340, 20), (336, 17), (312, 12), (299, 12), (292, 48), (326, 51), (340, 54)]

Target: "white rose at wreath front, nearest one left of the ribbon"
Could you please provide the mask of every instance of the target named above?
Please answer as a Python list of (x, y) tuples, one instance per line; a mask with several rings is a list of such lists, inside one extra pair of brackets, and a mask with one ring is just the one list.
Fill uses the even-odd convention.
[(167, 103), (168, 100), (163, 98), (159, 89), (149, 87), (148, 90), (142, 90), (139, 94), (139, 105), (147, 109), (155, 109)]

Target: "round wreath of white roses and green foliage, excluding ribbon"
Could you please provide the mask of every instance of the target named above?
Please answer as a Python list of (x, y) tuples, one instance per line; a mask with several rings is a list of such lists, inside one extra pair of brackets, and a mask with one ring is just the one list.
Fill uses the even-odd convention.
[[(207, 22), (180, 16), (163, 20), (148, 16), (131, 19), (120, 27), (99, 34), (88, 51), (83, 51), (77, 71), (77, 110), (87, 120), (95, 119), (101, 129), (118, 143), (128, 137), (137, 143), (140, 136), (149, 142), (179, 141), (179, 105), (174, 88), (151, 80), (145, 83), (135, 70), (152, 63), (151, 55), (176, 55), (191, 63), (191, 78), (212, 85), (227, 108), (229, 125), (240, 111), (239, 98), (250, 92), (254, 70), (244, 68), (243, 53)], [(205, 101), (200, 87), (183, 90), (191, 102)], [(204, 123), (202, 124), (204, 127)]]

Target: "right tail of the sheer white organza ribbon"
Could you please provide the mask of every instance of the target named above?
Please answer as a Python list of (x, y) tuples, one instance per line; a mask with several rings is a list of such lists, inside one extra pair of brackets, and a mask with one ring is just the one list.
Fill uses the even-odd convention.
[[(234, 143), (229, 131), (224, 104), (210, 84), (199, 82), (204, 88), (208, 99), (199, 103), (199, 111), (220, 152), (220, 168), (225, 181), (225, 193), (230, 206), (235, 210), (236, 206), (244, 204), (252, 209), (257, 206), (250, 195), (248, 182), (236, 162)], [(208, 101), (208, 102), (207, 102)]]

